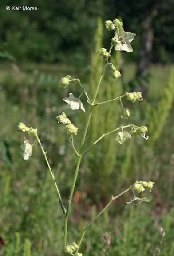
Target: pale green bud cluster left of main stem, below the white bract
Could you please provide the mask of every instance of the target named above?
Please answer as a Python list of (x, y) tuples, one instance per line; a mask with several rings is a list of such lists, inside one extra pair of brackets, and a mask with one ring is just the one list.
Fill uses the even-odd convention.
[(55, 118), (58, 120), (58, 123), (66, 124), (67, 135), (71, 135), (71, 134), (77, 135), (78, 128), (71, 123), (69, 118), (67, 118), (65, 112), (62, 112), (59, 116), (56, 116)]

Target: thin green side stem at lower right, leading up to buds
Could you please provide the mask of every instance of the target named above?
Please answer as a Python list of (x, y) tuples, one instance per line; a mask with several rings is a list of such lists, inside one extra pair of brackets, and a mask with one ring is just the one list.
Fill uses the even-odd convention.
[[(120, 196), (122, 196), (122, 195), (125, 194), (126, 192), (130, 191), (132, 188), (133, 188), (133, 185), (130, 186), (129, 188), (127, 188), (125, 191), (121, 192), (119, 195), (117, 195), (117, 196), (112, 196), (111, 200), (110, 200), (109, 203), (103, 208), (103, 210), (102, 210), (101, 212), (99, 212), (99, 214), (98, 214), (93, 220), (91, 220), (91, 222), (90, 222), (89, 224), (87, 224), (87, 226), (84, 228), (83, 234), (82, 234), (82, 236), (81, 236), (81, 239), (80, 239), (80, 242), (79, 242), (79, 248), (80, 248), (80, 245), (81, 245), (81, 243), (82, 243), (82, 240), (83, 240), (83, 237), (84, 237), (84, 235), (85, 235), (85, 232), (87, 231), (87, 228), (89, 228), (89, 227), (92, 225), (92, 223), (93, 223), (95, 220), (97, 220), (97, 219), (99, 218), (99, 216), (103, 214), (103, 212), (106, 211), (106, 209), (110, 206), (110, 204), (111, 204), (114, 200), (118, 199)], [(79, 248), (77, 249), (76, 252), (79, 251)]]

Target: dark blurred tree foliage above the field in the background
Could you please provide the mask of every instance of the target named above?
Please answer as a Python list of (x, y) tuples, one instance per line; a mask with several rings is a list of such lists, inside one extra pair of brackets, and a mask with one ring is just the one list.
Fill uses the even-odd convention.
[[(6, 6), (34, 6), (37, 11), (6, 11)], [(143, 20), (152, 16), (154, 31), (152, 60), (174, 60), (174, 3), (172, 0), (7, 0), (0, 3), (1, 52), (9, 52), (18, 61), (68, 61), (89, 64), (94, 48), (92, 36), (96, 16), (113, 20), (121, 16), (126, 31), (137, 33), (133, 42), (136, 59)], [(104, 47), (110, 35), (104, 34)], [(109, 39), (109, 40), (108, 40)], [(136, 47), (135, 47), (136, 46)], [(65, 57), (66, 56), (66, 57)]]

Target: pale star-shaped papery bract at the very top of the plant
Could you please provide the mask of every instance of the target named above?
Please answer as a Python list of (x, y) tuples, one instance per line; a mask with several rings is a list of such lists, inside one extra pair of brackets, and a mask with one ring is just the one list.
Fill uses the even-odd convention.
[[(123, 37), (123, 40), (119, 39), (120, 36)], [(123, 28), (120, 28), (118, 34), (114, 36), (115, 42), (117, 43), (115, 50), (133, 52), (133, 48), (131, 47), (130, 43), (132, 42), (132, 40), (134, 40), (135, 36), (136, 34), (125, 32)], [(122, 43), (121, 41), (124, 41), (124, 43)]]

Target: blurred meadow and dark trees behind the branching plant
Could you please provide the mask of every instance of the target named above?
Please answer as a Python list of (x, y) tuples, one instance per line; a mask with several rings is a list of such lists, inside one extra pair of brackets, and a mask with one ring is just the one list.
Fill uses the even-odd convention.
[[(37, 7), (37, 11), (7, 11), (6, 6)], [(81, 251), (104, 255), (103, 235), (111, 232), (108, 255), (174, 255), (174, 2), (172, 0), (6, 0), (0, 2), (0, 256), (58, 256), (63, 248), (63, 216), (54, 184), (39, 145), (23, 159), (24, 136), (19, 122), (38, 128), (65, 205), (77, 157), (55, 116), (66, 112), (75, 126), (75, 146), (81, 140), (86, 113), (72, 111), (62, 99), (78, 84), (63, 89), (62, 76), (80, 78), (92, 96), (102, 58), (112, 32), (106, 20), (120, 17), (126, 32), (137, 34), (133, 53), (113, 51), (119, 80), (107, 69), (97, 101), (126, 91), (143, 92), (144, 101), (123, 100), (130, 119), (121, 120), (118, 102), (96, 107), (86, 148), (103, 132), (120, 124), (149, 127), (149, 140), (132, 138), (118, 145), (116, 134), (97, 144), (83, 158), (75, 187), (68, 242), (78, 242), (87, 221), (135, 180), (154, 181), (142, 196), (149, 204), (125, 209), (127, 193), (88, 230)], [(85, 97), (84, 107), (88, 111)], [(35, 143), (32, 137), (28, 140)], [(164, 228), (166, 235), (162, 238)], [(3, 245), (4, 244), (4, 245)], [(160, 248), (161, 252), (157, 252)]]

